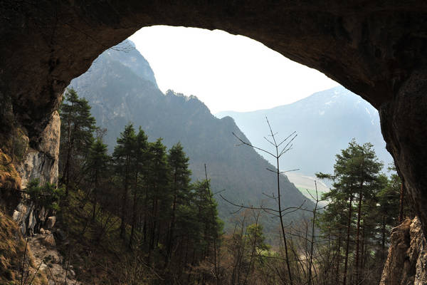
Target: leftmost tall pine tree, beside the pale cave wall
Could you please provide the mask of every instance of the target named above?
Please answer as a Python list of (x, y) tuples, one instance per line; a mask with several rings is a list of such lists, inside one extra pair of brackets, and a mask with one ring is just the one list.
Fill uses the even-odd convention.
[(65, 195), (68, 196), (72, 168), (78, 165), (76, 160), (87, 155), (86, 150), (92, 145), (95, 118), (90, 115), (88, 100), (78, 98), (71, 88), (67, 89), (60, 106), (60, 119), (60, 162), (63, 163), (60, 182), (65, 185)]

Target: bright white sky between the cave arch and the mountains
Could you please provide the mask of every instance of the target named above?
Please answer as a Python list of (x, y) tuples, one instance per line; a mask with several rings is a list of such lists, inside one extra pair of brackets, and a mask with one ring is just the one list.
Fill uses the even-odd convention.
[(225, 31), (152, 26), (130, 40), (160, 90), (196, 95), (211, 113), (273, 108), (338, 85), (258, 41)]

